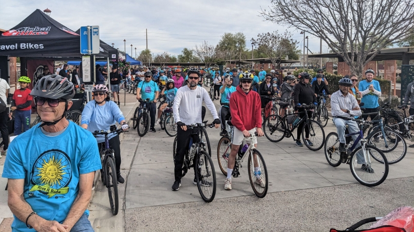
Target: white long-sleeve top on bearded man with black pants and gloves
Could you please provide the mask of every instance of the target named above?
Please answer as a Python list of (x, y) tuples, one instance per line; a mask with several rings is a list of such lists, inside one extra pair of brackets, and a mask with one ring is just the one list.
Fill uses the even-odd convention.
[(179, 88), (172, 106), (174, 120), (176, 122), (183, 122), (186, 125), (202, 123), (201, 107), (203, 101), (206, 103), (206, 106), (213, 115), (213, 118), (219, 118), (216, 107), (208, 96), (205, 88), (200, 86), (197, 86), (193, 90), (188, 86)]

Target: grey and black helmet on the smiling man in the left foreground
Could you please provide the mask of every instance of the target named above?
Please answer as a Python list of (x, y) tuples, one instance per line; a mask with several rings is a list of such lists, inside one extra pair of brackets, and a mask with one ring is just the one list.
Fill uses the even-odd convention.
[(66, 77), (56, 74), (40, 78), (30, 92), (30, 95), (50, 99), (73, 99), (75, 96), (74, 84)]

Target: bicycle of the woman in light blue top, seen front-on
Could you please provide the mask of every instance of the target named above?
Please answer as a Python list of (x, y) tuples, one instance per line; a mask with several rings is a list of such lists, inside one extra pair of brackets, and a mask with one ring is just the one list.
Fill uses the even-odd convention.
[(110, 133), (123, 133), (122, 128), (116, 129), (116, 125), (111, 125), (109, 131), (94, 131), (92, 133), (95, 137), (97, 135), (105, 135), (105, 144), (100, 145), (99, 156), (101, 157), (102, 169), (101, 180), (102, 183), (108, 188), (109, 204), (111, 205), (111, 212), (113, 215), (118, 214), (119, 199), (118, 199), (118, 178), (115, 168), (115, 156), (113, 149), (109, 148), (108, 134)]

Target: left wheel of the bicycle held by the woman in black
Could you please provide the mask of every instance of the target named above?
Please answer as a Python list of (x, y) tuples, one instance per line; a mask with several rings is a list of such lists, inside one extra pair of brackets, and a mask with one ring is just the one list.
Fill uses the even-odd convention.
[(279, 142), (284, 138), (285, 128), (282, 117), (278, 115), (268, 116), (263, 123), (263, 133), (272, 142)]

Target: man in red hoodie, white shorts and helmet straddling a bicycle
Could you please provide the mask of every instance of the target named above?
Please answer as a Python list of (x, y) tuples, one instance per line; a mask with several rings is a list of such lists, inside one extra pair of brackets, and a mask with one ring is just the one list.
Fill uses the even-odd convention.
[[(251, 91), (252, 82), (251, 75), (241, 74), (240, 84), (236, 87), (236, 92), (233, 92), (230, 96), (231, 123), (234, 128), (231, 135), (231, 151), (227, 162), (227, 179), (224, 185), (226, 190), (231, 190), (231, 174), (236, 163), (236, 155), (245, 137), (250, 137), (250, 134), (255, 132), (259, 136), (264, 135), (262, 131), (262, 102), (260, 95), (255, 91)], [(253, 142), (254, 147), (257, 147), (256, 138)], [(263, 179), (260, 176), (256, 178), (255, 182), (264, 187)]]

